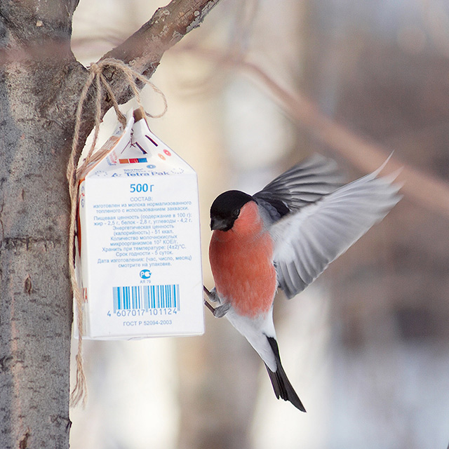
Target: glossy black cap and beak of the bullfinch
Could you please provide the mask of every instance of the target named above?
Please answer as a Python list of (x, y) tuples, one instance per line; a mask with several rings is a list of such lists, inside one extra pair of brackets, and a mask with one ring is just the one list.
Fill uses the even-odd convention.
[(210, 206), (210, 229), (213, 231), (229, 231), (239, 217), (240, 209), (248, 201), (254, 201), (253, 196), (239, 190), (228, 190), (215, 198)]

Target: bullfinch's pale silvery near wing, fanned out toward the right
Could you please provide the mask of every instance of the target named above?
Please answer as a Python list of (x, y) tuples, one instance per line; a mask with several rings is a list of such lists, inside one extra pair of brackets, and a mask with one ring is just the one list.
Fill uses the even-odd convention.
[(401, 199), (400, 186), (392, 184), (396, 175), (376, 177), (379, 171), (272, 225), (279, 286), (288, 298), (304, 290)]

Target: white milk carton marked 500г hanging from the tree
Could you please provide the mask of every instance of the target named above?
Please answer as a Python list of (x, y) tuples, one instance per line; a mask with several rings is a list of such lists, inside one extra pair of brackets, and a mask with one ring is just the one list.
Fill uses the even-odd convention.
[(81, 174), (76, 261), (83, 338), (200, 335), (196, 173), (135, 116)]

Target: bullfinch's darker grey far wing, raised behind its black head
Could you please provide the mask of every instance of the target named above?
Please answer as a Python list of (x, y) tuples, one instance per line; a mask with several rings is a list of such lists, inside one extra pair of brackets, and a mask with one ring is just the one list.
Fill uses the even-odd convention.
[(266, 185), (253, 198), (264, 206), (273, 220), (314, 203), (341, 187), (337, 164), (319, 154), (287, 170)]

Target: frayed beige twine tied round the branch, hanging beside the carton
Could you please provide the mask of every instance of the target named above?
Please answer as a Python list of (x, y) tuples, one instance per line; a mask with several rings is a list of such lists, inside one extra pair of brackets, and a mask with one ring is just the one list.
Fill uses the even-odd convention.
[[(75, 128), (74, 135), (72, 141), (72, 152), (70, 154), (69, 163), (67, 165), (67, 180), (69, 182), (69, 196), (71, 203), (71, 211), (70, 211), (70, 226), (69, 226), (69, 273), (70, 273), (70, 281), (72, 282), (72, 290), (76, 302), (76, 316), (77, 322), (76, 326), (78, 329), (78, 350), (76, 353), (76, 383), (72, 394), (70, 395), (70, 402), (72, 406), (76, 406), (79, 401), (83, 402), (83, 406), (86, 404), (87, 399), (87, 386), (86, 386), (86, 375), (84, 374), (83, 369), (83, 295), (79, 288), (78, 282), (76, 281), (75, 274), (75, 259), (74, 259), (74, 244), (75, 244), (75, 230), (76, 230), (76, 217), (77, 217), (77, 208), (78, 208), (78, 189), (79, 189), (79, 181), (81, 179), (81, 175), (84, 172), (84, 169), (88, 166), (88, 164), (93, 160), (93, 152), (95, 150), (95, 145), (98, 139), (98, 130), (100, 128), (101, 121), (101, 103), (102, 103), (102, 90), (103, 87), (106, 89), (107, 95), (109, 95), (109, 99), (112, 102), (112, 106), (116, 112), (117, 119), (119, 119), (123, 128), (126, 126), (126, 116), (122, 114), (119, 109), (119, 103), (116, 100), (114, 92), (112, 91), (111, 86), (105, 76), (103, 75), (103, 71), (106, 67), (112, 67), (114, 69), (119, 69), (126, 76), (126, 80), (133, 91), (134, 97), (138, 102), (139, 108), (142, 111), (143, 116), (147, 115), (154, 119), (163, 116), (163, 114), (167, 111), (167, 100), (163, 92), (159, 90), (154, 84), (147, 79), (146, 76), (143, 76), (139, 72), (136, 72), (135, 69), (126, 65), (121, 60), (116, 60), (114, 58), (106, 58), (104, 60), (100, 60), (100, 62), (93, 63), (89, 68), (89, 76), (86, 80), (86, 84), (81, 91), (81, 96), (79, 98), (78, 106), (76, 107), (76, 117), (75, 117)], [(136, 83), (136, 79), (142, 81), (145, 84), (149, 84), (152, 86), (152, 89), (161, 95), (163, 100), (163, 112), (161, 114), (152, 115), (145, 112), (145, 109), (142, 105), (142, 101), (140, 100), (140, 91)], [(91, 88), (92, 84), (95, 85), (95, 130), (93, 135), (93, 142), (91, 148), (88, 151), (86, 158), (81, 163), (81, 166), (76, 169), (76, 153), (78, 149), (79, 142), (79, 132), (81, 129), (81, 121), (82, 121), (82, 113), (83, 113), (83, 105), (88, 96), (89, 88)], [(81, 248), (80, 248), (81, 249)]]

